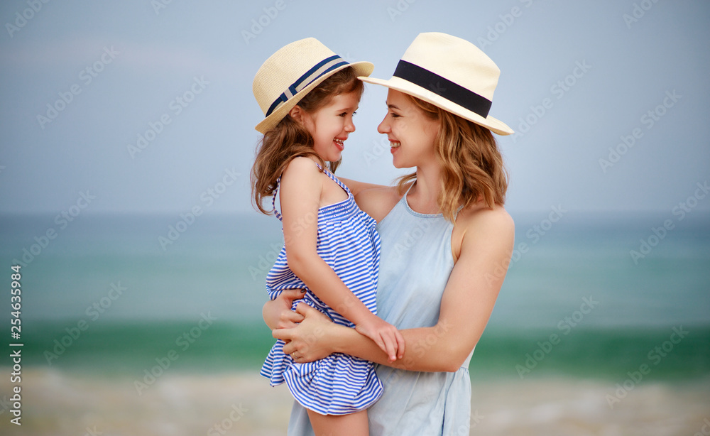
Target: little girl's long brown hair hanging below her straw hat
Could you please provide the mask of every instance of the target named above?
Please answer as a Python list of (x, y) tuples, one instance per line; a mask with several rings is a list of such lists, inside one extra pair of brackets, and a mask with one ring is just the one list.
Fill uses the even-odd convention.
[[(355, 92), (359, 99), (363, 91), (364, 85), (358, 80), (355, 70), (347, 67), (328, 77), (297, 104), (304, 111), (312, 114), (329, 104), (338, 94)], [(251, 168), (250, 178), (252, 202), (259, 212), (263, 214), (273, 212), (263, 206), (263, 198), (273, 195), (276, 190), (276, 180), (288, 163), (298, 156), (313, 156), (320, 161), (322, 168), (325, 167), (322, 158), (313, 151), (311, 134), (287, 114), (273, 129), (264, 133), (256, 146), (256, 158)], [(338, 165), (340, 160), (329, 162), (329, 170), (335, 172)]]

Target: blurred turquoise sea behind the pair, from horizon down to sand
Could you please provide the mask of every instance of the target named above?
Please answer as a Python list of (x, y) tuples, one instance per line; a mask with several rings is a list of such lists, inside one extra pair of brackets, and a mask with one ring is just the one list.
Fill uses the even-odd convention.
[[(515, 366), (542, 349), (529, 376), (613, 378), (648, 361), (682, 327), (689, 334), (662, 356), (654, 376), (710, 374), (709, 217), (678, 222), (635, 262), (630, 251), (664, 217), (568, 214), (557, 222), (545, 222), (545, 213), (514, 217), (516, 252), (472, 372), (518, 376)], [(130, 373), (175, 349), (176, 369), (256, 371), (272, 342), (261, 305), (280, 248), (278, 222), (256, 213), (200, 216), (178, 224), (184, 231), (161, 245), (181, 221), (2, 217), (6, 288), (10, 266), (21, 265), (24, 364)], [(54, 239), (43, 239), (48, 229)], [(0, 322), (10, 339), (8, 295)], [(210, 317), (207, 329), (198, 326), (202, 315)], [(558, 343), (547, 352), (551, 335)]]

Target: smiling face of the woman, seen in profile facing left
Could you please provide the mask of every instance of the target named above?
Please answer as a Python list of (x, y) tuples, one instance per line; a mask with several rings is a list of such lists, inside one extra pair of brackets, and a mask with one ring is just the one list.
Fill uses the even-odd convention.
[(434, 141), (439, 122), (427, 117), (403, 92), (389, 89), (387, 114), (377, 131), (390, 141), (395, 168), (412, 168), (436, 160)]

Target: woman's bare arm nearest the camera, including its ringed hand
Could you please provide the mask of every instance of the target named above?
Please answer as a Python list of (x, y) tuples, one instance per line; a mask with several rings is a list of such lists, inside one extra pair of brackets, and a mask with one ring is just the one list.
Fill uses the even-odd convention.
[(305, 316), (298, 327), (275, 329), (273, 336), (290, 340), (284, 352), (297, 351), (300, 361), (342, 352), (409, 371), (457, 371), (491, 316), (514, 237), (513, 220), (503, 209), (478, 214), (466, 229), (461, 254), (442, 296), (437, 325), (402, 330), (406, 349), (397, 364), (391, 364), (370, 339), (334, 325), (305, 305), (298, 305), (297, 312)]

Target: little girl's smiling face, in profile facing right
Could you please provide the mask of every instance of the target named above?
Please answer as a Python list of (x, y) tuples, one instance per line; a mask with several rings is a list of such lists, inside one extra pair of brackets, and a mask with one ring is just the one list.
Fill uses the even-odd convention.
[(296, 106), (291, 116), (313, 136), (313, 150), (326, 162), (340, 160), (345, 140), (355, 131), (353, 115), (360, 103), (359, 94), (337, 94), (324, 107), (312, 113)]

